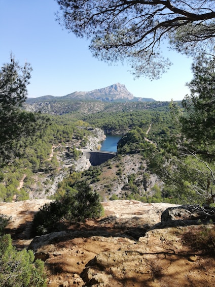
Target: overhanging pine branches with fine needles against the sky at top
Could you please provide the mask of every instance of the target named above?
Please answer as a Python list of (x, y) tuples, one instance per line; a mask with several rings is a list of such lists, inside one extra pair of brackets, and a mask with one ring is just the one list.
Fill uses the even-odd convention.
[(136, 76), (159, 78), (170, 61), (163, 45), (186, 54), (214, 50), (212, 0), (97, 1), (56, 0), (58, 20), (78, 37), (91, 40), (98, 59), (126, 61)]

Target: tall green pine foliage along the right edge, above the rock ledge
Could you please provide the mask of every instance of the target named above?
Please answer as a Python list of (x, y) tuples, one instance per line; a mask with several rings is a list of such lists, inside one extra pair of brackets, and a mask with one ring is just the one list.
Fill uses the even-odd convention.
[(169, 196), (204, 203), (215, 191), (214, 57), (198, 58), (193, 72), (183, 108), (171, 106), (177, 133), (152, 156), (151, 168), (168, 185)]

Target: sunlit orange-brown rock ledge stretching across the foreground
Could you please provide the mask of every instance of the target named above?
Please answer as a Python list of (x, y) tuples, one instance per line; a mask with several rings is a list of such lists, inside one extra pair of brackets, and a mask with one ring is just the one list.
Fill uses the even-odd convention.
[(39, 206), (40, 201), (26, 201), (0, 209), (13, 216), (8, 231), (14, 243), (30, 244), (45, 261), (50, 287), (214, 286), (214, 258), (195, 248), (195, 237), (204, 230), (195, 208), (105, 202), (103, 218), (32, 240), (30, 220)]

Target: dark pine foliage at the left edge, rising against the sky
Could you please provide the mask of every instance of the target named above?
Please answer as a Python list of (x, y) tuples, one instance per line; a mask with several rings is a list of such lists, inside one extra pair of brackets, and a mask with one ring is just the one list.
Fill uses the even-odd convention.
[(26, 144), (19, 140), (32, 137), (44, 126), (39, 114), (20, 109), (26, 99), (30, 72), (28, 63), (21, 67), (12, 56), (11, 61), (0, 70), (0, 165), (23, 154)]

